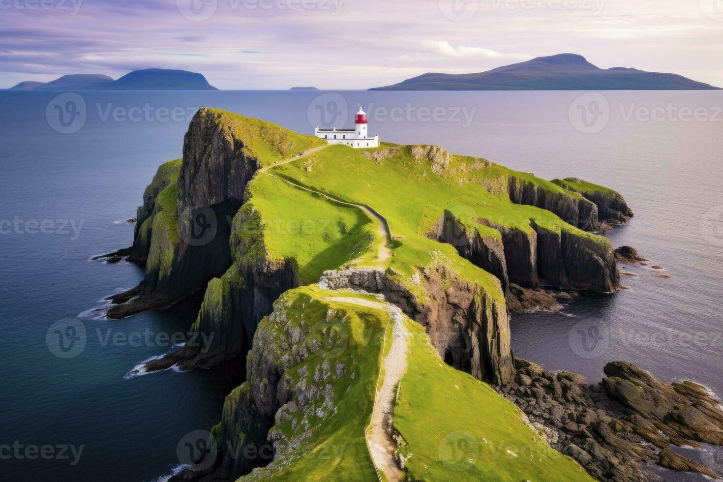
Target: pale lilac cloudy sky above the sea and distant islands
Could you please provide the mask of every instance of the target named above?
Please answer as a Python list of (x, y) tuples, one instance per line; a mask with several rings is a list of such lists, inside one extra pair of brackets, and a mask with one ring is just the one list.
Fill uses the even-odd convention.
[(723, 87), (723, 0), (0, 0), (0, 88), (159, 67), (366, 89), (555, 53)]

